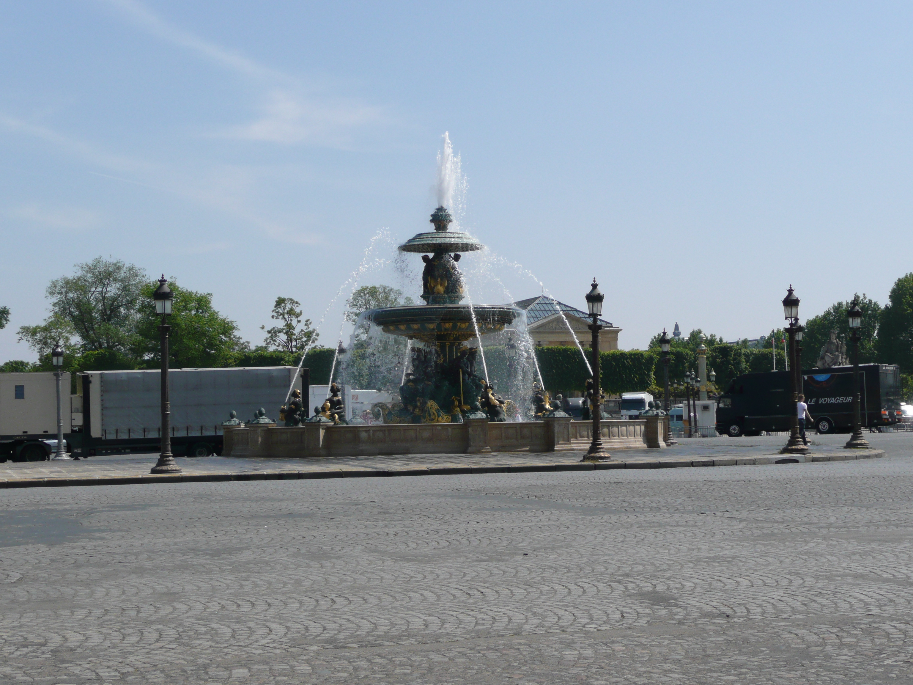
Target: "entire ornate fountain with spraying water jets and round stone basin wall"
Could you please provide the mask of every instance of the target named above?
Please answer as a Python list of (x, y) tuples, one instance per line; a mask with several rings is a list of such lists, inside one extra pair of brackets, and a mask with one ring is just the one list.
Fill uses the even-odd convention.
[[(469, 297), (458, 264), (463, 255), (483, 250), (485, 246), (460, 230), (451, 214), (460, 216), (465, 187), (459, 157), (453, 154), (445, 135), (444, 153), (438, 157), (437, 208), (430, 219), (434, 230), (406, 240), (398, 247), (398, 257), (394, 261), (374, 256), (375, 245), (382, 238), (389, 239), (386, 231), (379, 232), (365, 250), (359, 268), (343, 283), (319, 321), (320, 325), (343, 289), (351, 286), (352, 292), (355, 291), (362, 274), (375, 263), (394, 264), (404, 275), (412, 271), (408, 266), (409, 256), (421, 255), (425, 267), (420, 297), (425, 303), (362, 312), (352, 332), (349, 346), (352, 353), (346, 353), (340, 344), (333, 358), (331, 382), (336, 380), (333, 374), (339, 357), (342, 376), (348, 373), (356, 377), (358, 364), (362, 363), (368, 364), (362, 368), (378, 372), (373, 376), (373, 383), (377, 385), (362, 387), (395, 392), (398, 385), (398, 402), (373, 405), (374, 416), (380, 423), (369, 425), (351, 421), (344, 425), (339, 385), (334, 383), (331, 394), (310, 419), (306, 418), (310, 407), (305, 407), (298, 411), (299, 421), (290, 420), (286, 426), (276, 426), (265, 417), (265, 420), (245, 425), (226, 426), (224, 455), (370, 457), (410, 453), (584, 451), (589, 447), (592, 422), (572, 421), (560, 411), (560, 406), (551, 406), (542, 388), (532, 341), (525, 329), (526, 312), (512, 304), (475, 304)], [(469, 262), (470, 267), (482, 265), (482, 269), (486, 269), (490, 257), (485, 254)], [(519, 268), (519, 265), (504, 263)], [(467, 272), (471, 274), (473, 268)], [(486, 277), (472, 282), (493, 280), (500, 283), (498, 274), (486, 272)], [(410, 276), (409, 282), (415, 283), (414, 278)], [(544, 291), (540, 281), (535, 280)], [(507, 300), (511, 300), (509, 295)], [(494, 335), (499, 332), (503, 335)], [(358, 363), (353, 344), (357, 342), (356, 334), (362, 335), (360, 351), (367, 353)], [(501, 338), (498, 344), (502, 347), (492, 348), (491, 352), (492, 356), (503, 359), (495, 361), (489, 356), (489, 362), (495, 361), (494, 364), (485, 362), (481, 345), (486, 336), (489, 340)], [(477, 341), (477, 346), (468, 344), (473, 340)], [(578, 348), (583, 354), (579, 343)], [(497, 354), (494, 354), (495, 349), (498, 349)], [(351, 359), (347, 359), (350, 356)], [(586, 361), (585, 354), (583, 356)], [(492, 378), (489, 378), (490, 370), (492, 376), (505, 379), (505, 360), (508, 395), (512, 397), (507, 400), (496, 394)], [(477, 361), (481, 363), (478, 367)], [(347, 364), (352, 364), (348, 371)], [(533, 371), (539, 381), (535, 385), (530, 377)], [(294, 401), (289, 402), (293, 385), (286, 397), (286, 409), (298, 407)], [(530, 387), (534, 393), (531, 397)], [(529, 399), (523, 400), (523, 397)], [(645, 424), (645, 420), (604, 420), (603, 443), (612, 449), (643, 447)]]

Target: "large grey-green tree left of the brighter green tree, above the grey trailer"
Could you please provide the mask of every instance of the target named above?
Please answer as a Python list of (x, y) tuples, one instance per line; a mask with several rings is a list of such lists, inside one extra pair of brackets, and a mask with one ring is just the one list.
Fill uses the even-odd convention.
[[(51, 315), (69, 321), (84, 350), (131, 347), (146, 274), (120, 259), (97, 257), (47, 286)], [(46, 321), (47, 323), (47, 321)]]

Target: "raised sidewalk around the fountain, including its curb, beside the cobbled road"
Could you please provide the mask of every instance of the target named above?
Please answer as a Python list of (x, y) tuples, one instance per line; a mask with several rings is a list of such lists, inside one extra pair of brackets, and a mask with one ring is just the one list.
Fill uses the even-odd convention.
[(0, 489), (53, 486), (128, 485), (224, 480), (322, 479), (517, 473), (602, 469), (668, 469), (709, 466), (761, 466), (808, 461), (879, 458), (885, 450), (850, 450), (818, 444), (808, 455), (778, 453), (782, 438), (682, 440), (666, 449), (619, 449), (610, 461), (581, 462), (582, 452), (429, 454), (348, 458), (177, 458), (183, 472), (153, 476), (157, 455), (102, 456), (79, 461), (0, 464)]

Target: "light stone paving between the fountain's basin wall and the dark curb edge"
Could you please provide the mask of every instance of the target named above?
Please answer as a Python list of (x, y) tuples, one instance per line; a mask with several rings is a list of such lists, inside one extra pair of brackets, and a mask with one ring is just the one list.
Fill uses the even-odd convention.
[[(859, 450), (844, 449), (846, 436), (816, 436), (812, 440), (813, 452), (806, 459), (832, 461), (850, 458), (877, 458), (883, 449), (897, 442), (899, 445), (913, 444), (913, 435), (876, 434), (873, 447), (879, 450), (861, 453)], [(601, 469), (615, 468), (662, 468), (690, 466), (736, 466), (775, 463), (789, 455), (780, 455), (778, 450), (785, 443), (785, 437), (718, 437), (683, 439), (680, 444), (666, 449), (618, 449), (610, 462), (599, 465)], [(293, 476), (300, 478), (315, 474), (326, 475), (330, 471), (342, 471), (344, 475), (368, 475), (368, 471), (381, 471), (378, 475), (416, 475), (424, 469), (428, 473), (458, 472), (469, 473), (473, 469), (482, 472), (498, 466), (513, 469), (556, 470), (574, 468), (582, 458), (582, 452), (508, 452), (495, 454), (414, 454), (382, 457), (343, 458), (177, 458), (184, 469), (184, 477), (201, 480), (203, 477), (251, 476), (268, 474), (273, 477)], [(84, 484), (85, 479), (145, 478), (149, 481), (168, 481), (170, 477), (151, 477), (149, 470), (155, 464), (157, 455), (99, 456), (78, 461), (37, 461), (6, 462), (0, 464), (0, 488), (10, 486), (57, 484), (70, 479)], [(802, 458), (800, 458), (802, 459)], [(195, 478), (198, 477), (198, 478)], [(73, 481), (72, 479), (78, 479)], [(26, 480), (35, 482), (26, 483)], [(88, 483), (85, 483), (88, 484)]]

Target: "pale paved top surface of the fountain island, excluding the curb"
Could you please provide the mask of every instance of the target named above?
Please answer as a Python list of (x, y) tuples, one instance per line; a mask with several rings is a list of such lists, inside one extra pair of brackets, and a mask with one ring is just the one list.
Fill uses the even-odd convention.
[[(913, 446), (913, 433), (872, 434), (873, 448), (903, 450)], [(847, 436), (814, 436), (813, 451), (826, 457), (834, 455), (847, 458), (856, 450), (843, 449)], [(617, 449), (613, 460), (617, 463), (635, 463), (640, 466), (650, 462), (673, 462), (691, 459), (717, 459), (716, 465), (730, 465), (731, 459), (766, 458), (771, 461), (786, 442), (786, 437), (716, 437), (682, 439), (667, 449)], [(890, 452), (888, 452), (890, 453)], [(340, 457), (340, 458), (178, 458), (184, 474), (211, 473), (262, 473), (263, 471), (324, 471), (338, 469), (415, 469), (492, 465), (541, 465), (572, 464), (580, 461), (582, 452), (508, 452), (495, 454), (412, 454), (389, 457)], [(880, 455), (879, 455), (880, 456)], [(0, 487), (6, 481), (22, 479), (59, 478), (135, 478), (149, 474), (158, 455), (103, 455), (75, 461), (32, 461), (0, 464)], [(676, 466), (690, 466), (675, 464)], [(712, 465), (712, 464), (711, 464)]]

